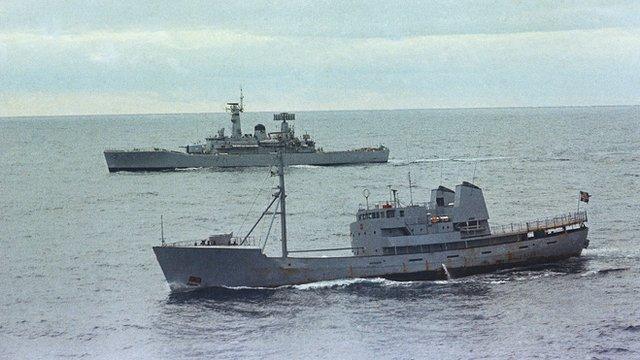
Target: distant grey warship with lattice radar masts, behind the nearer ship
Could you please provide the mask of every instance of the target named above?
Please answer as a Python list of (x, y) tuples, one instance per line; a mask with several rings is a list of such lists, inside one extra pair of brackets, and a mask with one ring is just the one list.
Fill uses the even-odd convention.
[(184, 151), (166, 149), (105, 150), (104, 157), (110, 172), (117, 171), (162, 171), (208, 167), (255, 167), (275, 164), (277, 147), (284, 143), (285, 165), (351, 165), (362, 163), (384, 163), (389, 159), (385, 146), (365, 147), (344, 151), (324, 151), (316, 148), (308, 134), (297, 137), (289, 121), (295, 114), (274, 114), (281, 121), (280, 131), (266, 132), (262, 124), (254, 127), (253, 134), (243, 134), (240, 126), (242, 103), (227, 103), (231, 114), (231, 135), (224, 128), (215, 136), (205, 139), (203, 144), (184, 146)]

